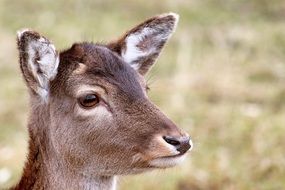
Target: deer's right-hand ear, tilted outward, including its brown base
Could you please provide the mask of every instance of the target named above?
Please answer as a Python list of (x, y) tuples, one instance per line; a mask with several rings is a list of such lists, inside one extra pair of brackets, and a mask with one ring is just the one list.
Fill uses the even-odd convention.
[(140, 74), (145, 75), (175, 30), (178, 20), (179, 16), (175, 13), (158, 15), (134, 27), (107, 46), (121, 55)]

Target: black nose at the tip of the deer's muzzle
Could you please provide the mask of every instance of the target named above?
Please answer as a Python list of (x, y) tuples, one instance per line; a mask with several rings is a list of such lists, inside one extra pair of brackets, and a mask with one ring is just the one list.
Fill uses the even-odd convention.
[(180, 154), (184, 154), (187, 152), (190, 148), (190, 137), (170, 137), (170, 136), (164, 136), (163, 139), (168, 143), (173, 145), (176, 150), (180, 152)]

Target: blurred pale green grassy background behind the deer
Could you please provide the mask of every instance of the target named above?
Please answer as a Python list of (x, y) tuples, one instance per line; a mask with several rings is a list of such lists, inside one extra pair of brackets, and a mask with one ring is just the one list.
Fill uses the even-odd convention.
[(16, 30), (62, 49), (169, 11), (180, 23), (147, 77), (150, 97), (194, 149), (176, 168), (121, 177), (120, 189), (285, 189), (284, 0), (0, 0), (0, 189), (19, 179), (27, 152)]

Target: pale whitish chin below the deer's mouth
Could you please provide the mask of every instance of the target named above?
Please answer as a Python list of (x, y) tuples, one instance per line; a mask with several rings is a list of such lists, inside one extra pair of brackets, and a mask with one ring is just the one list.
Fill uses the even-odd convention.
[(174, 167), (181, 162), (183, 162), (186, 158), (186, 154), (183, 155), (175, 155), (175, 156), (164, 156), (159, 157), (150, 161), (150, 166), (153, 168), (170, 168)]

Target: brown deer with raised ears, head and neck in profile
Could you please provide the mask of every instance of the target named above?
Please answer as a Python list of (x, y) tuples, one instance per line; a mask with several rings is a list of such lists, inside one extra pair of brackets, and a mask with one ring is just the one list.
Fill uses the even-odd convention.
[(115, 190), (118, 176), (185, 159), (192, 140), (151, 102), (145, 79), (178, 20), (156, 15), (117, 40), (62, 51), (36, 31), (18, 31), (29, 139), (11, 189)]

